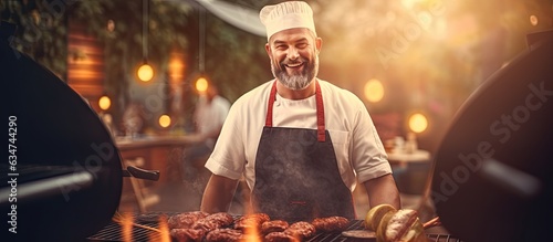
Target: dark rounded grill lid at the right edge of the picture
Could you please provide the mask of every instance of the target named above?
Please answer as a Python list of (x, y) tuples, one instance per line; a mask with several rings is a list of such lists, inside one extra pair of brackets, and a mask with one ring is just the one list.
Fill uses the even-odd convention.
[(462, 240), (551, 239), (552, 33), (529, 38), (530, 49), (469, 97), (436, 154), (431, 197)]

